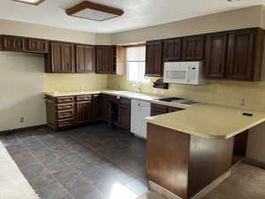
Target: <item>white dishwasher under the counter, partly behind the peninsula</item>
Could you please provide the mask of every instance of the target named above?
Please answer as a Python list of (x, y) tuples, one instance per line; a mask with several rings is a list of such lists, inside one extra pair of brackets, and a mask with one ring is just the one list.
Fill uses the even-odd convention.
[(147, 138), (148, 126), (145, 118), (150, 116), (151, 104), (140, 100), (131, 103), (131, 132)]

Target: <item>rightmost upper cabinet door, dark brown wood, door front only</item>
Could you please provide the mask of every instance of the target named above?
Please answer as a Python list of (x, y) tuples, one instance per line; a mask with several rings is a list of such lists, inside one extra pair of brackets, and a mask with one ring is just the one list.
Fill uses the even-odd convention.
[(227, 57), (228, 78), (234, 80), (253, 79), (254, 41), (254, 30), (230, 32)]

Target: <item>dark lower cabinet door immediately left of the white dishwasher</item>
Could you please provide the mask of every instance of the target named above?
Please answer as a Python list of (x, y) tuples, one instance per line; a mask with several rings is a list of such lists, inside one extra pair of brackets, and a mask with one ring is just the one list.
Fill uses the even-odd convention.
[(125, 129), (131, 127), (131, 106), (125, 103), (118, 104), (118, 126)]

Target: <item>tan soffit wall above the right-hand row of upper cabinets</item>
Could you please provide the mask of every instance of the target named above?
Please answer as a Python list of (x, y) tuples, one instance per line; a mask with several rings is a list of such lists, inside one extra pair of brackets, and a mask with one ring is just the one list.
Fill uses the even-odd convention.
[(113, 44), (146, 42), (184, 35), (260, 27), (260, 25), (261, 5), (112, 34), (111, 41)]

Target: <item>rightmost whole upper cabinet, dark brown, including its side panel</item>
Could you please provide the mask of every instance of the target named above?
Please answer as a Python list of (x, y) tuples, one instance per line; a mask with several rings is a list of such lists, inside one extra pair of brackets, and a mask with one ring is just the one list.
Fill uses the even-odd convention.
[[(261, 29), (242, 29), (229, 33), (227, 77), (231, 80), (260, 80)], [(261, 39), (262, 37), (262, 39)], [(261, 44), (262, 43), (262, 44)]]

